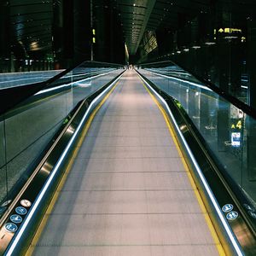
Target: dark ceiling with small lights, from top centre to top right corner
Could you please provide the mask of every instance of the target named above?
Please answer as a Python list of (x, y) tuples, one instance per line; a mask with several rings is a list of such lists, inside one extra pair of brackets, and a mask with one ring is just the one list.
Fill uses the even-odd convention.
[(135, 55), (145, 31), (175, 31), (200, 13), (208, 13), (219, 3), (223, 10), (244, 15), (253, 14), (253, 0), (114, 0), (119, 9), (125, 42), (130, 55)]

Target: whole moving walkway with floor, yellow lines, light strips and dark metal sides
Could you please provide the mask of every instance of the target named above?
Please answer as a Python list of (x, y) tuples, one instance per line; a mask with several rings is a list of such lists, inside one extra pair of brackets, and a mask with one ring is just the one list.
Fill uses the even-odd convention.
[[(59, 113), (64, 102), (68, 114), (49, 130), (35, 171), (20, 174), (14, 200), (3, 198), (2, 253), (253, 253), (253, 225), (204, 158), (180, 102), (152, 76), (114, 67), (100, 80), (56, 83), (38, 93), (46, 94), (44, 106), (58, 102)], [(28, 105), (42, 110), (41, 101)]]

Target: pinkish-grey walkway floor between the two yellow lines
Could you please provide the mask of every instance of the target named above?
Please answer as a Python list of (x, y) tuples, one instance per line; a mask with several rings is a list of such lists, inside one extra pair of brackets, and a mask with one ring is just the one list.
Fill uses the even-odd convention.
[(218, 255), (159, 108), (127, 71), (96, 113), (34, 255)]

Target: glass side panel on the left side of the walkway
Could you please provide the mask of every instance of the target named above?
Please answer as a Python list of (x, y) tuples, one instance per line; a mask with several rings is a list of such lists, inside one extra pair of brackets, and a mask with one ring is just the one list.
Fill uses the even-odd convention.
[(35, 170), (67, 115), (124, 71), (84, 62), (0, 117), (0, 214)]

